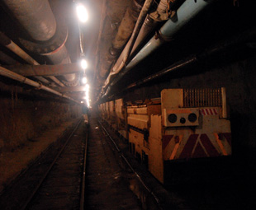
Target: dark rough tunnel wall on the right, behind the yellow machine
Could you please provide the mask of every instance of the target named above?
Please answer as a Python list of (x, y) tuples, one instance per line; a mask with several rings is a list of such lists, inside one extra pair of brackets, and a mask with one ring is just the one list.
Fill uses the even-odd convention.
[[(201, 68), (201, 69), (200, 69)], [(160, 97), (164, 88), (226, 87), (233, 156), (256, 168), (256, 56), (213, 67), (196, 65), (126, 93), (125, 100)], [(199, 71), (199, 72), (198, 72)], [(193, 74), (192, 72), (197, 72)]]

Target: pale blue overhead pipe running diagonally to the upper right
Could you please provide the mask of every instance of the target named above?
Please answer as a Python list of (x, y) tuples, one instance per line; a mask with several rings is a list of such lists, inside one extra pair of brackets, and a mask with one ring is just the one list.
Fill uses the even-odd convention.
[[(197, 2), (187, 0), (184, 2), (183, 5), (178, 8), (177, 21), (169, 19), (159, 30), (157, 38), (155, 38), (155, 36), (152, 37), (151, 40), (145, 44), (145, 47), (135, 55), (135, 58), (133, 58), (130, 63), (128, 63), (126, 68), (120, 72), (116, 72), (116, 74), (118, 73), (116, 77), (111, 83), (108, 82), (105, 87), (108, 88), (108, 86), (114, 86), (116, 82), (119, 82), (127, 72), (129, 72), (132, 68), (135, 68), (135, 66), (147, 58), (149, 54), (152, 54), (156, 49), (159, 49), (159, 47), (167, 40), (170, 40), (173, 35), (175, 35), (179, 30), (183, 28), (183, 26), (187, 24), (188, 21), (190, 21), (204, 8), (206, 8), (211, 2), (213, 2), (213, 0), (197, 0)], [(105, 91), (102, 90), (103, 94), (104, 92)]]

